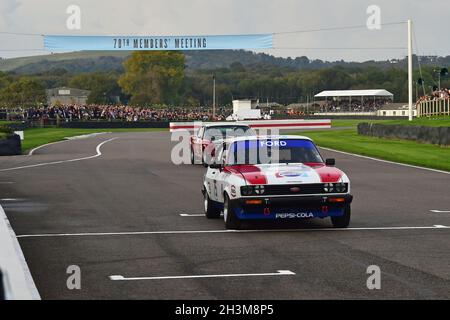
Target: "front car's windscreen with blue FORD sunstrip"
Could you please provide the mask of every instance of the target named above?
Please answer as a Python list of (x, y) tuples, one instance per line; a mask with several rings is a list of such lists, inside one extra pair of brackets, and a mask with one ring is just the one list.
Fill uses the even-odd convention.
[(314, 143), (304, 139), (245, 140), (233, 142), (228, 165), (268, 163), (323, 163)]

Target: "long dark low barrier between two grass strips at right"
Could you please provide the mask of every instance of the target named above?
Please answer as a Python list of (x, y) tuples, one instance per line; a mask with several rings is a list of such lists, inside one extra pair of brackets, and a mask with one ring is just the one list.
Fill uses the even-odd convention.
[(450, 145), (450, 127), (358, 124), (358, 134), (378, 138), (413, 140), (441, 146)]

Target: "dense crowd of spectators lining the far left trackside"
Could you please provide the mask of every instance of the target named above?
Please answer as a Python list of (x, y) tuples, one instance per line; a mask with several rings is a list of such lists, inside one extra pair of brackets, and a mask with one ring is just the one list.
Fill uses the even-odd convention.
[[(53, 107), (24, 108), (14, 112), (16, 120), (59, 120), (59, 121), (173, 121), (213, 120), (212, 112), (203, 108), (144, 108), (115, 105), (63, 105)], [(218, 111), (214, 120), (222, 120)]]

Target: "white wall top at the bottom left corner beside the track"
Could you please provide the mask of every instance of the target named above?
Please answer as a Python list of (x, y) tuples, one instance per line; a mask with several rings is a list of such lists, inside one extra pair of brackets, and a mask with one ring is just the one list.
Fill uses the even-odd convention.
[(0, 268), (4, 298), (8, 300), (40, 300), (16, 234), (0, 206)]

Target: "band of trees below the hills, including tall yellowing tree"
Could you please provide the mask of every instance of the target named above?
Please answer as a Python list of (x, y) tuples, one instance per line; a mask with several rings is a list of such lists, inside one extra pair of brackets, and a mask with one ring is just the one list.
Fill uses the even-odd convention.
[[(137, 51), (123, 63), (123, 70), (74, 74), (64, 68), (31, 75), (0, 72), (0, 106), (36, 106), (46, 103), (45, 89), (73, 87), (90, 90), (88, 103), (112, 104), (120, 101), (138, 106), (210, 106), (213, 76), (220, 106), (235, 98), (254, 97), (261, 101), (290, 104), (311, 101), (323, 90), (386, 89), (395, 101), (408, 99), (407, 71), (404, 66), (333, 65), (319, 69), (298, 69), (273, 64), (244, 65), (236, 61), (228, 67), (187, 69), (182, 52)], [(414, 95), (430, 93), (438, 85), (436, 68), (426, 65), (414, 71), (414, 79), (424, 80)], [(449, 87), (448, 77), (441, 79)]]

